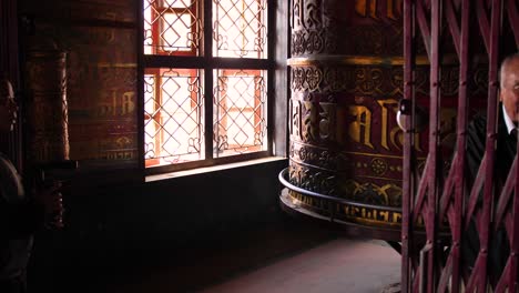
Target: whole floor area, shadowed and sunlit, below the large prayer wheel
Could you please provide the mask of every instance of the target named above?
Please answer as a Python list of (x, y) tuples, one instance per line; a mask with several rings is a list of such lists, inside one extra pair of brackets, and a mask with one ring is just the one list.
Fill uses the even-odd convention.
[(338, 238), (297, 221), (162, 259), (110, 277), (102, 292), (378, 293), (400, 279), (400, 255), (384, 242)]

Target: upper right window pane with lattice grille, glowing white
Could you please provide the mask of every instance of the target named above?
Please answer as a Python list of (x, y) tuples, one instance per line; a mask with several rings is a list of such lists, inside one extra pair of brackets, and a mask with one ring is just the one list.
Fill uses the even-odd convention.
[(213, 54), (267, 58), (266, 12), (266, 0), (214, 0)]

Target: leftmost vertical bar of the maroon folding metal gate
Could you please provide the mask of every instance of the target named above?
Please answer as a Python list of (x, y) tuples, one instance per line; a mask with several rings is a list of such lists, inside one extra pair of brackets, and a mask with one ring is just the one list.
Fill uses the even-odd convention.
[[(413, 71), (414, 71), (414, 47), (413, 47), (413, 0), (404, 1), (404, 99), (413, 101)], [(401, 111), (401, 109), (400, 109)], [(410, 284), (410, 203), (413, 196), (413, 165), (411, 143), (413, 132), (410, 130), (411, 117), (404, 115), (404, 160), (403, 160), (403, 201), (401, 201), (401, 292), (409, 292)]]

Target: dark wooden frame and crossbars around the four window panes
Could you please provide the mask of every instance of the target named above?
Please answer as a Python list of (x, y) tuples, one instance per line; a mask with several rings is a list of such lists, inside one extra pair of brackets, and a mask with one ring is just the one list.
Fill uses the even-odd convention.
[[(142, 0), (144, 1), (144, 0)], [(273, 16), (275, 12), (275, 1), (266, 0), (267, 1), (267, 14), (265, 16), (267, 23), (267, 36), (275, 36), (276, 34), (276, 27), (275, 27), (275, 17)], [(266, 50), (266, 59), (253, 59), (253, 58), (223, 58), (223, 57), (213, 57), (213, 36), (212, 33), (204, 33), (211, 32), (213, 28), (213, 11), (212, 4), (213, 0), (201, 0), (200, 4), (201, 8), (199, 11), (202, 11), (204, 18), (202, 18), (202, 41), (200, 43), (201, 52), (199, 55), (190, 55), (185, 54), (185, 52), (181, 53), (167, 53), (167, 54), (144, 54), (144, 16), (143, 16), (143, 2), (140, 6), (140, 22), (139, 22), (139, 72), (138, 72), (138, 87), (140, 93), (140, 111), (141, 118), (144, 117), (144, 90), (143, 90), (143, 79), (144, 79), (144, 71), (149, 71), (150, 69), (160, 69), (160, 68), (183, 68), (183, 69), (197, 69), (203, 71), (203, 80), (201, 81), (201, 85), (203, 88), (203, 107), (204, 107), (204, 118), (203, 118), (203, 128), (204, 128), (204, 146), (205, 155), (203, 160), (193, 161), (193, 162), (185, 162), (185, 163), (177, 163), (177, 164), (169, 164), (169, 165), (160, 165), (153, 168), (145, 166), (144, 160), (144, 119), (139, 119), (140, 121), (140, 156), (141, 156), (141, 166), (144, 170), (145, 174), (157, 174), (164, 172), (174, 172), (174, 171), (184, 171), (191, 170), (202, 166), (212, 166), (212, 165), (220, 165), (225, 163), (234, 163), (234, 162), (242, 162), (248, 161), (253, 159), (261, 159), (272, 156), (274, 154), (274, 145), (273, 145), (273, 128), (274, 128), (274, 112), (276, 111), (274, 104), (274, 77), (276, 71), (276, 60), (275, 60), (275, 52), (274, 52), (274, 37), (268, 39), (267, 44), (265, 44), (264, 50)], [(159, 22), (159, 21), (157, 21)], [(208, 29), (207, 29), (208, 28)], [(263, 32), (258, 32), (263, 33)], [(286, 36), (286, 34), (285, 34)], [(154, 40), (156, 40), (154, 38)], [(285, 59), (286, 60), (286, 59)], [(285, 61), (283, 60), (283, 61)], [(250, 152), (236, 155), (228, 155), (222, 158), (214, 158), (213, 155), (213, 104), (214, 104), (214, 97), (213, 90), (215, 85), (215, 80), (213, 80), (213, 72), (215, 70), (266, 70), (266, 113), (264, 113), (264, 119), (267, 122), (266, 127), (266, 150), (258, 151), (258, 152)], [(286, 70), (284, 68), (283, 70)], [(285, 84), (285, 82), (283, 82)], [(256, 103), (257, 101), (255, 101)], [(277, 114), (276, 114), (277, 115)], [(284, 118), (286, 114), (284, 113)], [(256, 122), (256, 117), (254, 117), (254, 124), (258, 124)], [(261, 127), (261, 125), (258, 125)], [(257, 127), (255, 127), (257, 128)], [(283, 132), (286, 133), (286, 132)]]

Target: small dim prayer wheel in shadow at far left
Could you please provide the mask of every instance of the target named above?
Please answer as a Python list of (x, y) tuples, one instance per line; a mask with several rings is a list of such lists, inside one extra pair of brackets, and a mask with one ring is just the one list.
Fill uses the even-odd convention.
[(65, 52), (48, 39), (28, 44), (28, 145), (34, 164), (69, 160)]

